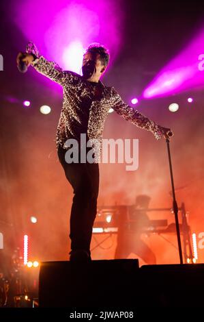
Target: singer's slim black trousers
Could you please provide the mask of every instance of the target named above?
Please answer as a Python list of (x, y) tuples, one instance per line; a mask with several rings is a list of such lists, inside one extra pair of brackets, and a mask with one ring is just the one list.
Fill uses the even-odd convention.
[(70, 216), (71, 249), (85, 249), (90, 254), (92, 227), (97, 212), (99, 166), (98, 163), (88, 162), (68, 164), (65, 162), (66, 151), (59, 146), (59, 161), (74, 190)]

